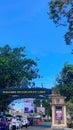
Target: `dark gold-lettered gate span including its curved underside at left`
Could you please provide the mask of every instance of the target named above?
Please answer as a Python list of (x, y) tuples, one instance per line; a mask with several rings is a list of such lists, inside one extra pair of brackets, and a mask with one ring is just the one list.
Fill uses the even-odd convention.
[[(0, 102), (2, 106), (10, 104), (19, 98), (49, 99), (52, 90), (47, 88), (7, 88), (0, 89)], [(3, 97), (3, 98), (2, 98)], [(0, 107), (2, 107), (0, 106)]]

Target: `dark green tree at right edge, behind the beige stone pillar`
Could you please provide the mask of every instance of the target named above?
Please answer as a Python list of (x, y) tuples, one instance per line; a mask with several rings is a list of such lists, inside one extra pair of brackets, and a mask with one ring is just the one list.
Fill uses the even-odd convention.
[(67, 101), (73, 99), (73, 65), (65, 63), (61, 73), (57, 76), (56, 88)]

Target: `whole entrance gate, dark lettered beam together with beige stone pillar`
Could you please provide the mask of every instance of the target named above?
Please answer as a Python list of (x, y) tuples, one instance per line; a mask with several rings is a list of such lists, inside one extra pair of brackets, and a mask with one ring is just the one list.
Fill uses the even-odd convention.
[[(66, 105), (64, 103), (64, 97), (52, 93), (51, 89), (47, 88), (13, 88), (13, 89), (1, 89), (0, 96), (16, 95), (17, 98), (39, 98), (45, 99), (52, 96), (52, 128), (54, 127), (66, 127)], [(11, 100), (11, 99), (10, 99)], [(60, 128), (59, 128), (60, 129)]]

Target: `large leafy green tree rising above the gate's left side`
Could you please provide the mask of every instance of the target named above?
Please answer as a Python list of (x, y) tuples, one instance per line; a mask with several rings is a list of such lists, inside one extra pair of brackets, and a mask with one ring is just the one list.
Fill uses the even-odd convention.
[(28, 87), (38, 77), (38, 71), (37, 62), (27, 58), (25, 47), (0, 47), (0, 88)]

